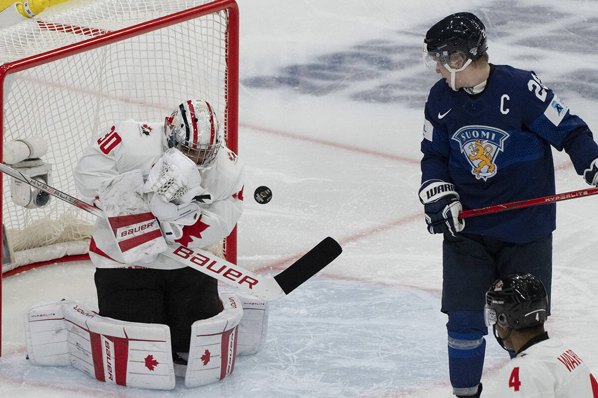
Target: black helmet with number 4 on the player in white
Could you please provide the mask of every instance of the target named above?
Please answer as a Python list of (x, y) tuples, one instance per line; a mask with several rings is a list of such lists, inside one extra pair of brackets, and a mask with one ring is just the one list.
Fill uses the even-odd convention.
[(542, 281), (532, 274), (497, 279), (486, 293), (486, 325), (522, 329), (541, 325), (548, 311), (548, 295)]

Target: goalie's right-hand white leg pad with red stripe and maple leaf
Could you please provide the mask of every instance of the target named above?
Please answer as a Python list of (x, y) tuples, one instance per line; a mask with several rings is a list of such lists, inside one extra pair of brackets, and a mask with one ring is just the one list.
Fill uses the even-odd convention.
[(219, 295), (224, 309), (191, 326), (185, 386), (197, 387), (222, 380), (234, 369), (242, 304), (232, 293)]

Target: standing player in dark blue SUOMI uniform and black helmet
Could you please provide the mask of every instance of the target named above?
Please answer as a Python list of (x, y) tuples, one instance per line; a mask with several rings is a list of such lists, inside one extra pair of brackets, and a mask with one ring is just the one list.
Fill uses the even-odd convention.
[(429, 92), (423, 128), (422, 186), (430, 233), (443, 233), (443, 296), (453, 394), (479, 397), (488, 330), (487, 286), (532, 273), (550, 297), (556, 204), (464, 220), (476, 209), (554, 195), (551, 146), (598, 183), (598, 145), (590, 129), (529, 70), (490, 64), (486, 29), (471, 13), (434, 24), (426, 65), (442, 79)]

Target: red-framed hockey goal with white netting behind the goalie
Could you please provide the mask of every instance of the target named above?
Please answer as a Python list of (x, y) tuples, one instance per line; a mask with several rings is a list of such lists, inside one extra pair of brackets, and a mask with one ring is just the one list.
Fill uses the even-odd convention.
[[(0, 30), (2, 144), (43, 137), (50, 185), (77, 197), (73, 170), (91, 138), (124, 119), (161, 121), (179, 103), (202, 98), (237, 152), (238, 43), (234, 0), (71, 0), (48, 8)], [(23, 208), (12, 202), (5, 175), (2, 186), (14, 261), (0, 276), (89, 258), (92, 215), (56, 198)], [(236, 263), (236, 228), (222, 251)]]

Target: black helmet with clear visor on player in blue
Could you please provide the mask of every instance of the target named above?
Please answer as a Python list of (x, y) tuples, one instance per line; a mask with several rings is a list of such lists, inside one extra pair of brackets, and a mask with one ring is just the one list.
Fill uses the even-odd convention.
[(434, 24), (426, 32), (423, 43), (424, 53), (436, 57), (441, 64), (449, 64), (449, 56), (453, 53), (475, 61), (488, 48), (486, 27), (472, 13), (452, 14)]

